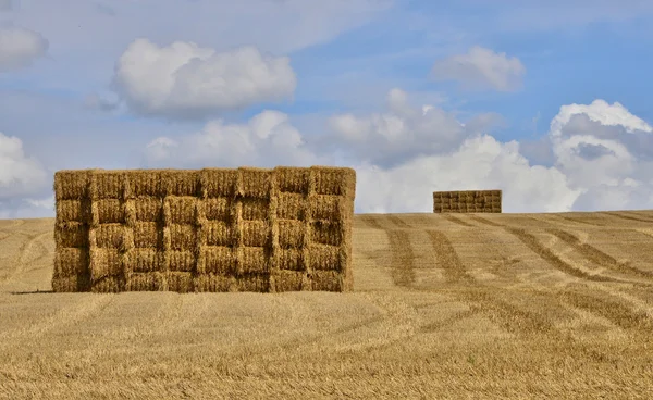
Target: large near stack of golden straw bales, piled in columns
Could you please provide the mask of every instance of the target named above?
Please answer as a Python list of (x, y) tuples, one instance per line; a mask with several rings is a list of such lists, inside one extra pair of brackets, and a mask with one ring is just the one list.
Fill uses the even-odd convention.
[(54, 291), (349, 291), (356, 173), (60, 171)]

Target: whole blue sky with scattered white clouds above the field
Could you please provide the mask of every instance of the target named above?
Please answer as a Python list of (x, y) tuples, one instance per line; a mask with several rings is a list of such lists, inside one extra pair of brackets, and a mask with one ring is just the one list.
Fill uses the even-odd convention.
[(56, 171), (337, 165), (357, 213), (653, 209), (650, 0), (0, 0), (0, 218)]

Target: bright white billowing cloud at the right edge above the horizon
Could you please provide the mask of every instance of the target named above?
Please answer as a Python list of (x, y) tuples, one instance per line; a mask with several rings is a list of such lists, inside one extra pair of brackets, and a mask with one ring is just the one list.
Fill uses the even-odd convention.
[(653, 128), (620, 103), (563, 105), (549, 139), (575, 210), (653, 208)]

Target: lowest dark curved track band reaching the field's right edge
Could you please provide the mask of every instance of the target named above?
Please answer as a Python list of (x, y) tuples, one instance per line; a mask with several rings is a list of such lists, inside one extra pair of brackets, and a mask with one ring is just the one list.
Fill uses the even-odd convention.
[(557, 296), (560, 300), (578, 309), (603, 316), (625, 330), (639, 330), (649, 336), (653, 332), (653, 320), (645, 312), (634, 311), (613, 299), (584, 295), (572, 290), (560, 290)]

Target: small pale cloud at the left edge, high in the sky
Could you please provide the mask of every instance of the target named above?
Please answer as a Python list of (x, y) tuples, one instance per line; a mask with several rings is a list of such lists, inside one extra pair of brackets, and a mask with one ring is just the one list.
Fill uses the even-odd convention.
[(48, 40), (34, 30), (0, 26), (0, 72), (32, 65), (48, 51)]

